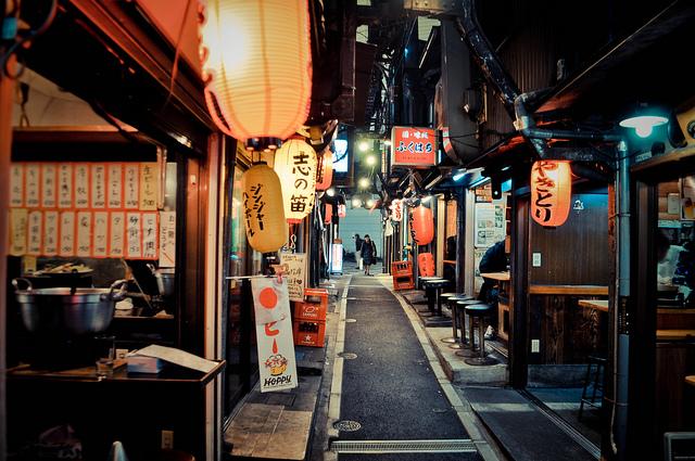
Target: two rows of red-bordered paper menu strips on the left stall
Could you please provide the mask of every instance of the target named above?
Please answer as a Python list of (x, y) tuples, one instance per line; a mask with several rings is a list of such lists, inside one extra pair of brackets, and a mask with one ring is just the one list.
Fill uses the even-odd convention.
[(159, 178), (156, 163), (13, 163), (10, 254), (157, 259)]

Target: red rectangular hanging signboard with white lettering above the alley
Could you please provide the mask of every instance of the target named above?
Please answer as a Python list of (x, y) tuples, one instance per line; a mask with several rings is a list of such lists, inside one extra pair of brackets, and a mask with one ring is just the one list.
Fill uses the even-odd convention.
[(391, 165), (429, 167), (437, 165), (437, 131), (431, 128), (393, 127)]

